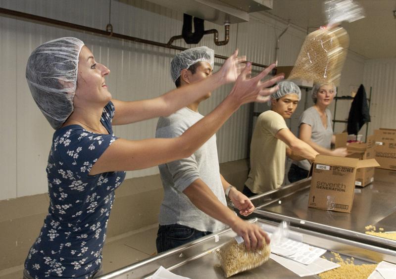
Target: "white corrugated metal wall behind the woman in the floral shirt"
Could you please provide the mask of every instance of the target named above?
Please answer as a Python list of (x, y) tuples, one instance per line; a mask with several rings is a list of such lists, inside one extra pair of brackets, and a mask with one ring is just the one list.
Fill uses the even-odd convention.
[[(128, 2), (129, 4), (127, 4)], [(108, 23), (108, 0), (0, 0), (0, 6), (56, 18), (98, 29)], [(144, 0), (111, 1), (114, 32), (152, 41), (167, 42), (179, 35), (183, 14)], [(238, 47), (248, 60), (269, 64), (275, 60), (275, 42), (286, 27), (276, 19), (256, 14), (250, 21), (231, 26), (230, 42), (217, 47), (211, 36), (200, 46), (214, 48), (220, 55), (230, 55)], [(224, 37), (223, 27), (205, 22), (205, 29), (216, 28)], [(30, 96), (25, 81), (25, 66), (30, 52), (46, 41), (74, 36), (91, 48), (96, 59), (107, 65), (107, 78), (114, 98), (137, 100), (158, 96), (174, 88), (169, 64), (175, 50), (112, 40), (86, 33), (45, 26), (0, 16), (0, 200), (47, 191), (45, 167), (53, 130)], [(280, 42), (279, 65), (292, 65), (297, 58), (305, 32), (291, 27)], [(184, 41), (175, 45), (187, 46)], [(216, 59), (215, 71), (223, 60)], [(4, 67), (4, 65), (6, 65)], [(258, 69), (255, 69), (258, 70)], [(200, 112), (211, 111), (230, 91), (223, 87), (203, 102)], [(154, 136), (156, 119), (115, 127), (119, 137), (144, 139)], [(248, 105), (236, 112), (217, 133), (220, 162), (245, 158), (247, 154)], [(127, 178), (157, 173), (157, 168), (129, 172)]]

